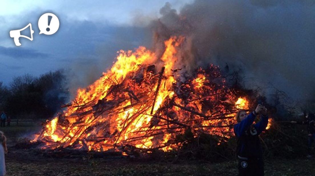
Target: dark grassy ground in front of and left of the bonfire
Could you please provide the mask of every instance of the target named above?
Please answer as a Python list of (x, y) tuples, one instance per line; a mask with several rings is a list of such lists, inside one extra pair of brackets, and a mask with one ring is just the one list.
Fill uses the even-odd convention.
[[(7, 175), (237, 175), (236, 161), (208, 163), (203, 161), (139, 161), (134, 158), (52, 158), (30, 149), (15, 148), (21, 138), (38, 131), (38, 124), (12, 124), (0, 127), (8, 137)], [(315, 159), (265, 161), (266, 176), (315, 176)]]

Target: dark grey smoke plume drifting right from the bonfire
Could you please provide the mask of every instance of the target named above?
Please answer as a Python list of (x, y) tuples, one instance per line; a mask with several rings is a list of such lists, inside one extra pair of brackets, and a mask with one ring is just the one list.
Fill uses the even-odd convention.
[[(242, 68), (251, 87), (272, 85), (294, 99), (314, 99), (315, 6), (311, 0), (195, 0), (180, 12), (166, 3), (154, 20), (154, 48), (183, 35), (186, 66)], [(193, 62), (192, 62), (193, 60)], [(185, 62), (187, 61), (187, 62)], [(248, 88), (249, 88), (248, 87)], [(266, 94), (271, 93), (268, 90)]]

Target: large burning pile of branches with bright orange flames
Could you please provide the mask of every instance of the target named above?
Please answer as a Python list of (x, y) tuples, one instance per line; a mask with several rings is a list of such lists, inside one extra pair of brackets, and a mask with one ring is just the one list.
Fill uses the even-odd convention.
[(184, 37), (171, 37), (161, 56), (145, 47), (120, 51), (112, 68), (79, 89), (32, 142), (50, 149), (169, 151), (180, 147), (184, 141), (176, 136), (186, 130), (226, 141), (233, 136), (234, 113), (248, 109), (248, 101), (226, 86), (215, 65), (191, 75), (177, 68), (183, 43)]

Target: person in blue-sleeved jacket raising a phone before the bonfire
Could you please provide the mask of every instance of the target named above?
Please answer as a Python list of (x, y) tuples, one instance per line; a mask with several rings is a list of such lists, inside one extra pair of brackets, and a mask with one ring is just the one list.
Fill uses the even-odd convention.
[[(261, 120), (253, 124), (258, 114), (261, 114)], [(240, 110), (236, 119), (238, 123), (234, 125), (234, 134), (238, 139), (236, 152), (239, 176), (263, 176), (264, 162), (259, 134), (268, 125), (267, 109), (259, 104), (249, 115), (245, 110)]]

